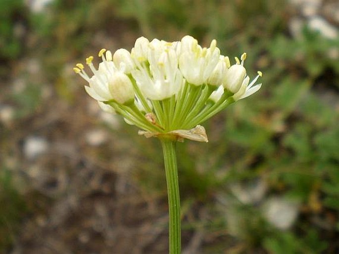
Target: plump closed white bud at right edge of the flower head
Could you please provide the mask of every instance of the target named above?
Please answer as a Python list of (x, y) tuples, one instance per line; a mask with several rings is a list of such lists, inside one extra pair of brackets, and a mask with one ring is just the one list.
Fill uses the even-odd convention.
[(246, 76), (246, 69), (240, 64), (232, 65), (227, 71), (223, 80), (224, 88), (232, 93), (237, 93)]

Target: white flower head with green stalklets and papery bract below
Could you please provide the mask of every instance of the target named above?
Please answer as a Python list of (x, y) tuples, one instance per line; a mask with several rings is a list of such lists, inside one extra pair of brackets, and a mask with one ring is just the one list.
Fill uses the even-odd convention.
[(93, 56), (86, 59), (92, 76), (81, 63), (74, 68), (89, 83), (87, 93), (103, 110), (141, 128), (139, 133), (146, 137), (207, 142), (199, 124), (261, 87), (255, 84), (259, 71), (249, 82), (243, 67), (246, 53), (231, 65), (215, 40), (202, 48), (191, 36), (172, 43), (140, 37), (131, 52), (119, 49), (112, 55), (102, 49), (98, 56), (98, 69)]

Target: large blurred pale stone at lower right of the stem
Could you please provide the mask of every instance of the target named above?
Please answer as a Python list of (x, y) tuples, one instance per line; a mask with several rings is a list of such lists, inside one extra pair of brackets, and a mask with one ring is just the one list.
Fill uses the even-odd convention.
[(268, 222), (281, 230), (289, 229), (295, 222), (299, 204), (282, 197), (273, 197), (263, 205), (263, 214)]

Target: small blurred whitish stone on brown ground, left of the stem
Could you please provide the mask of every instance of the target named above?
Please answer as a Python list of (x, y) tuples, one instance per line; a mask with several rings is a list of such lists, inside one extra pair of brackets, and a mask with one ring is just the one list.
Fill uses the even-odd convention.
[(23, 152), (26, 158), (35, 159), (48, 151), (49, 144), (43, 137), (31, 136), (24, 141)]

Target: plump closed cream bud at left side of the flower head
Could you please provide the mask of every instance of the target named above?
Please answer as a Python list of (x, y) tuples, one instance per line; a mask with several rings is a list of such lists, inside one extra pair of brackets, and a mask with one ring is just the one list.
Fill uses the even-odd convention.
[(120, 104), (128, 103), (134, 100), (133, 85), (129, 77), (122, 73), (116, 72), (108, 81), (108, 89), (113, 100)]

